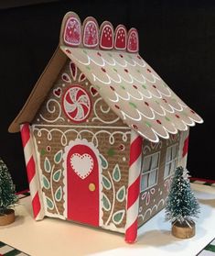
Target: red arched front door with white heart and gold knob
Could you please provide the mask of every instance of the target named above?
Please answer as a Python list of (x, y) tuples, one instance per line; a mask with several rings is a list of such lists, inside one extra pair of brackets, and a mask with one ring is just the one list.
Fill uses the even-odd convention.
[(99, 226), (99, 166), (87, 145), (74, 145), (67, 156), (68, 219)]

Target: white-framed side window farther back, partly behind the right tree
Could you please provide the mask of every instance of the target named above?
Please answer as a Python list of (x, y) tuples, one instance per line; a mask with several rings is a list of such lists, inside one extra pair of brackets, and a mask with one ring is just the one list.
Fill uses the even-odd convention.
[(174, 144), (167, 148), (164, 178), (171, 176), (177, 168), (177, 145)]

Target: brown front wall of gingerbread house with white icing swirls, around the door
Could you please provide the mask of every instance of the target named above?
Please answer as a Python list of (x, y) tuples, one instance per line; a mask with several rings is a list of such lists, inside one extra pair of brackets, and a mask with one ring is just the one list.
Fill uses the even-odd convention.
[[(68, 93), (74, 85), (78, 85), (77, 90), (83, 89), (75, 99)], [(91, 106), (86, 104), (87, 96)], [(80, 117), (86, 114), (86, 118), (82, 122), (74, 121), (79, 115), (72, 112), (70, 117), (63, 106), (65, 101), (70, 107), (81, 107)], [(88, 111), (88, 107), (91, 111)], [(124, 126), (121, 119), (103, 102), (97, 89), (71, 61), (67, 61), (59, 73), (32, 127), (47, 215), (66, 217), (63, 154), (71, 140), (87, 139), (103, 158), (102, 225), (111, 226), (111, 229), (124, 228), (130, 128)]]

